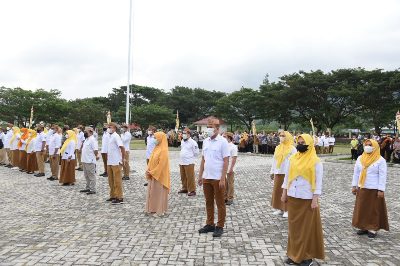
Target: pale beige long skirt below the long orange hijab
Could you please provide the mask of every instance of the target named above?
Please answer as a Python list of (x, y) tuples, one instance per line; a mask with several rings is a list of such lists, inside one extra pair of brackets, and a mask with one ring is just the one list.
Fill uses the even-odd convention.
[(144, 212), (161, 214), (168, 210), (168, 189), (156, 179), (148, 180), (146, 208)]

